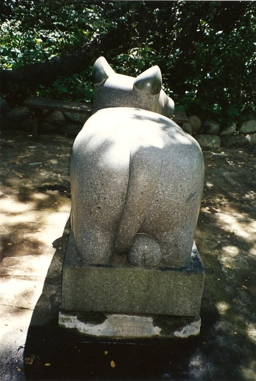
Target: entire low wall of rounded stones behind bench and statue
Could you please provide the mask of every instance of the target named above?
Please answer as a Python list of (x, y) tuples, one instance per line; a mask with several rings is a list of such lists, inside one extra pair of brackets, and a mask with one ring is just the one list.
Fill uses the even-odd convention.
[[(45, 110), (46, 112), (46, 110)], [(10, 109), (0, 97), (1, 125), (5, 128), (21, 128), (31, 131), (33, 117), (27, 107)], [(54, 111), (43, 121), (43, 132), (60, 132), (69, 136), (76, 136), (82, 129), (90, 114), (68, 113)], [(256, 120), (246, 120), (241, 124), (220, 124), (216, 120), (201, 120), (197, 115), (191, 115), (189, 122), (181, 128), (192, 135), (203, 149), (218, 147), (241, 147), (256, 143)]]

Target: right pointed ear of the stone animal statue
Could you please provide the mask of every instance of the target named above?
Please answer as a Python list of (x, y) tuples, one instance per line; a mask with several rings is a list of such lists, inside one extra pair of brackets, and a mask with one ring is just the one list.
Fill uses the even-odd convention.
[(148, 95), (157, 95), (162, 87), (162, 74), (158, 66), (152, 66), (150, 69), (141, 73), (134, 81), (136, 89)]

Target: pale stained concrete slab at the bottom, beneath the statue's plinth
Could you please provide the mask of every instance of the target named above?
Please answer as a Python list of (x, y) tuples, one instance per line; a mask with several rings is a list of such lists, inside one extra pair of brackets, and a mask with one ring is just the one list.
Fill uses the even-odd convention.
[(94, 338), (188, 338), (199, 335), (201, 319), (60, 311), (59, 325), (75, 328), (85, 336)]

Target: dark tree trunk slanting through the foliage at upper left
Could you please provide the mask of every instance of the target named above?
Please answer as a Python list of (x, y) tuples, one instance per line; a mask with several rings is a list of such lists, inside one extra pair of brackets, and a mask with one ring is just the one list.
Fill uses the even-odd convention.
[[(122, 38), (120, 38), (120, 35)], [(16, 70), (0, 70), (0, 93), (10, 98), (14, 94), (25, 94), (28, 86), (51, 83), (57, 76), (72, 75), (85, 70), (99, 56), (109, 50), (126, 51), (129, 46), (128, 30), (112, 30), (86, 43), (81, 50), (50, 60), (35, 62)]]

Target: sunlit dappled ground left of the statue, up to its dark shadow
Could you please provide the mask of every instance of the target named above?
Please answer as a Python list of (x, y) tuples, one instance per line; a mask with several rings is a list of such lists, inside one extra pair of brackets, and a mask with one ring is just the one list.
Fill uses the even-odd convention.
[[(0, 136), (0, 377), (18, 380), (24, 336), (54, 253), (52, 242), (69, 214), (73, 141), (58, 136), (32, 141), (15, 131)], [(48, 284), (49, 292), (53, 288)]]

